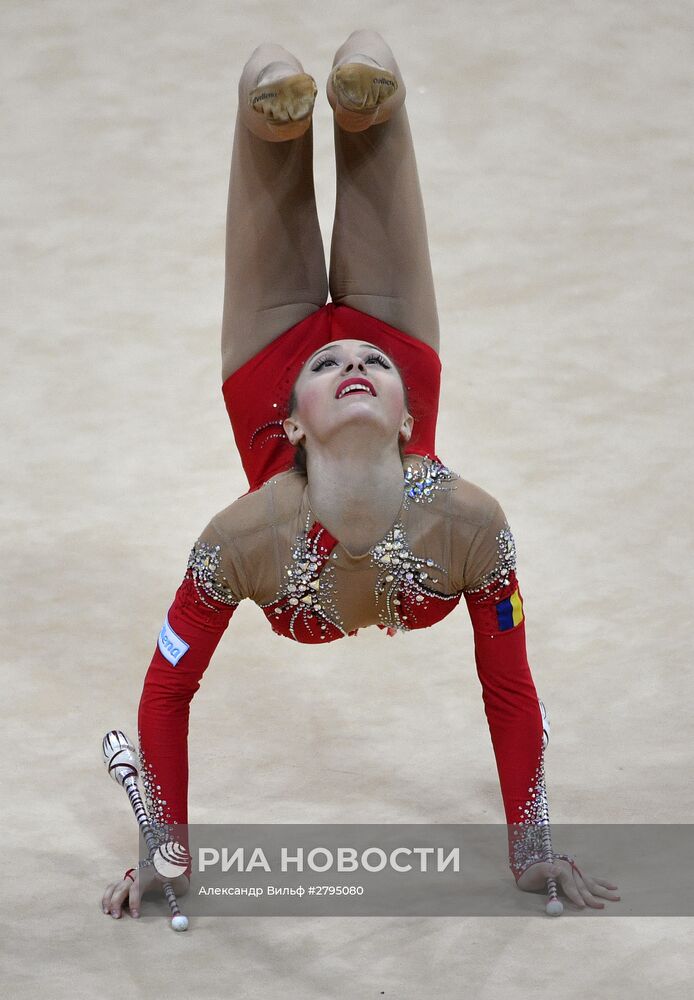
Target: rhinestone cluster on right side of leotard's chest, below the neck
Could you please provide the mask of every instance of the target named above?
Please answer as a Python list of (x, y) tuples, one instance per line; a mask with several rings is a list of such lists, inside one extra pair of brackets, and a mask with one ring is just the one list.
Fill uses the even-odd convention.
[(386, 628), (406, 632), (416, 625), (416, 611), (425, 608), (428, 599), (457, 601), (459, 594), (440, 594), (428, 587), (426, 580), (438, 583), (431, 571), (445, 573), (433, 559), (416, 556), (410, 549), (404, 525), (398, 521), (385, 538), (369, 550), (371, 565), (380, 570), (374, 594), (379, 600), (385, 594), (385, 606), (379, 611), (379, 621)]

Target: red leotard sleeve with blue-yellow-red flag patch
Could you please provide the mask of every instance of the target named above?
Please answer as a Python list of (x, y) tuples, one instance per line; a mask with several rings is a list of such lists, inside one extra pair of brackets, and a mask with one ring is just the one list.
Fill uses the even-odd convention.
[(476, 572), (476, 582), (463, 593), (508, 824), (509, 866), (517, 881), (530, 864), (544, 859), (539, 824), (544, 817), (548, 820), (546, 738), (526, 654), (515, 544), (500, 507), (487, 528), (480, 530), (474, 561), (479, 565), (481, 557), (491, 569), (481, 576)]

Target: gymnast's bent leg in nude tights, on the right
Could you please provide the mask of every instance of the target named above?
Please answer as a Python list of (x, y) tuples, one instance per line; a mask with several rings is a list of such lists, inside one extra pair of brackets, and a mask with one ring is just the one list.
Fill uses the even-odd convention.
[[(352, 111), (340, 116), (346, 128), (354, 130), (342, 128), (335, 115), (337, 195), (330, 295), (336, 304), (369, 313), (438, 351), (424, 204), (400, 68), (378, 32), (360, 30), (337, 50), (333, 70), (366, 61), (375, 64), (373, 71), (367, 70), (360, 80), (358, 71), (350, 76), (347, 70), (341, 95), (332, 79), (328, 81), (328, 100), (334, 109), (347, 90), (346, 103)], [(379, 82), (378, 66), (394, 75), (398, 88), (370, 111), (384, 96), (379, 90), (388, 88), (387, 74)], [(360, 87), (361, 94), (355, 92)], [(364, 109), (361, 114), (353, 110), (359, 104)], [(370, 116), (374, 124), (369, 124)]]

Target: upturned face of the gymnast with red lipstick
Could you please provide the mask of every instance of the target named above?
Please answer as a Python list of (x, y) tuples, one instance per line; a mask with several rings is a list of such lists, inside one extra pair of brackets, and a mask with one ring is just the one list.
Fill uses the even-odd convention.
[(284, 429), (292, 444), (326, 442), (347, 426), (409, 441), (413, 419), (407, 412), (400, 373), (373, 344), (337, 340), (311, 355), (293, 393)]

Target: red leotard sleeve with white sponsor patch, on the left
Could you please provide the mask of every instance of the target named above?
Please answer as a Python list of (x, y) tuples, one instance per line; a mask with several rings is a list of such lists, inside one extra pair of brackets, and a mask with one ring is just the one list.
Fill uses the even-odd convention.
[[(198, 546), (193, 549), (191, 562), (200, 551)], [(208, 560), (211, 551), (214, 552), (205, 549)], [(150, 819), (155, 826), (188, 822), (190, 702), (238, 607), (238, 602), (214, 582), (209, 570), (209, 561), (205, 570), (200, 569), (199, 559), (192, 568), (189, 563), (145, 675), (138, 731), (142, 780)], [(208, 589), (211, 579), (216, 596)], [(187, 849), (184, 829), (178, 833), (170, 831), (169, 836)], [(190, 866), (186, 873), (190, 875)]]

